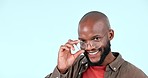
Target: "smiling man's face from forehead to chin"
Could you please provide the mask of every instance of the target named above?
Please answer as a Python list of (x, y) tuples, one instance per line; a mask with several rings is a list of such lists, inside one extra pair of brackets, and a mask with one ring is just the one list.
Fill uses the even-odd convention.
[(86, 51), (85, 54), (92, 63), (99, 62), (102, 54), (110, 51), (108, 32), (103, 21), (80, 23), (78, 30), (80, 47)]

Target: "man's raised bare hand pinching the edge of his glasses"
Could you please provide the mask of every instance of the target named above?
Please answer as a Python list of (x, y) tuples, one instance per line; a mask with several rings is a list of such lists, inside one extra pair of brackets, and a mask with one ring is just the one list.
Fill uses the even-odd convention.
[(58, 69), (61, 73), (65, 73), (72, 66), (75, 59), (84, 52), (84, 50), (79, 50), (75, 54), (71, 53), (71, 50), (75, 50), (74, 45), (77, 45), (79, 42), (79, 40), (68, 40), (65, 45), (61, 45), (58, 54)]

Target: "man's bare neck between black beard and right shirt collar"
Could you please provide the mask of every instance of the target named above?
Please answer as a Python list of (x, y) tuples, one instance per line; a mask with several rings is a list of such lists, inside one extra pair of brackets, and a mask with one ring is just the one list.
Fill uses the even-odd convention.
[(109, 54), (106, 56), (104, 62), (102, 63), (103, 66), (106, 66), (113, 62), (115, 60), (115, 56), (112, 54), (112, 52), (109, 52)]

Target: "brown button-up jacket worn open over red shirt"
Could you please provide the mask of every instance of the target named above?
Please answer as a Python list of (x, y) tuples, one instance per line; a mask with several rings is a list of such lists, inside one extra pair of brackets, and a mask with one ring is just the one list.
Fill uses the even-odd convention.
[[(116, 59), (106, 66), (104, 78), (148, 78), (146, 74), (131, 63), (125, 61), (119, 53), (113, 53)], [(87, 59), (79, 56), (73, 66), (71, 66), (66, 74), (61, 74), (57, 67), (53, 73), (45, 78), (81, 78), (82, 73), (87, 70)]]

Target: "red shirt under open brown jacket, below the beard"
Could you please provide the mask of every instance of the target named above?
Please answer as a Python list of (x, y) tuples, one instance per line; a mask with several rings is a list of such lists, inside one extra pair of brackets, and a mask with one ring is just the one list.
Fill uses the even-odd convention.
[(104, 78), (106, 66), (90, 66), (82, 74), (82, 78)]

